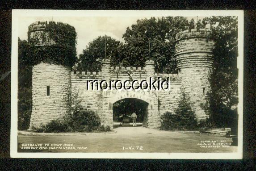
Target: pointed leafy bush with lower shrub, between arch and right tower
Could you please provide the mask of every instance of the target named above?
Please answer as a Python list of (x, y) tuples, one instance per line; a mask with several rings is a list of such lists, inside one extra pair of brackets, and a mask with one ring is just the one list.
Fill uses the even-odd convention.
[(181, 91), (179, 104), (174, 114), (166, 112), (160, 117), (160, 121), (160, 129), (164, 130), (193, 130), (197, 128), (193, 104), (184, 90)]

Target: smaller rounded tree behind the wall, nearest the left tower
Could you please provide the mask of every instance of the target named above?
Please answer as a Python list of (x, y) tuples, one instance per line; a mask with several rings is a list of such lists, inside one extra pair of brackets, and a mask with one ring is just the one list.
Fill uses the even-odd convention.
[(79, 55), (78, 71), (100, 71), (101, 61), (105, 59), (105, 41), (106, 41), (106, 54), (110, 59), (111, 65), (120, 63), (121, 58), (118, 54), (118, 47), (122, 43), (116, 41), (109, 36), (99, 36), (92, 42), (89, 42), (83, 54)]

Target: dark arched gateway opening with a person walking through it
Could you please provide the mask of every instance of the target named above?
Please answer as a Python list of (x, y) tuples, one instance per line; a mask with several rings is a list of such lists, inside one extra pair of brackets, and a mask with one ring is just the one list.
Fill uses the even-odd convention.
[[(113, 123), (114, 128), (124, 126), (121, 124), (122, 116), (131, 116), (133, 112), (137, 114), (137, 126), (147, 127), (147, 108), (148, 103), (144, 100), (136, 98), (125, 98), (118, 100), (113, 104)], [(129, 126), (129, 125), (126, 125)], [(132, 126), (132, 119), (130, 118), (130, 126)]]

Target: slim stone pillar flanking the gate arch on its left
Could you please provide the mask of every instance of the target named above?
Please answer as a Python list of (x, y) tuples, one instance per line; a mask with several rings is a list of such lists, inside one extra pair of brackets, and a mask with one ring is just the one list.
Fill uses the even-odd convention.
[[(109, 83), (109, 80), (111, 80), (111, 74), (110, 74), (110, 60), (105, 59), (102, 60), (102, 68), (101, 68), (101, 80), (106, 80)], [(101, 101), (102, 101), (102, 113), (99, 114), (101, 116), (101, 125), (109, 126), (111, 129), (113, 129), (113, 109), (109, 107), (109, 95), (110, 90), (107, 91), (101, 91)]]

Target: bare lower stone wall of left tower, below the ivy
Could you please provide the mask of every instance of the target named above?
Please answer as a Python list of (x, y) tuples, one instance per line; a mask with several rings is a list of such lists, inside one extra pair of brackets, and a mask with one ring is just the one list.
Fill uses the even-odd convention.
[[(69, 67), (40, 63), (33, 67), (32, 114), (29, 129), (46, 125), (54, 119), (62, 119), (71, 112), (68, 100), (71, 90)], [(50, 86), (50, 96), (46, 87)]]

